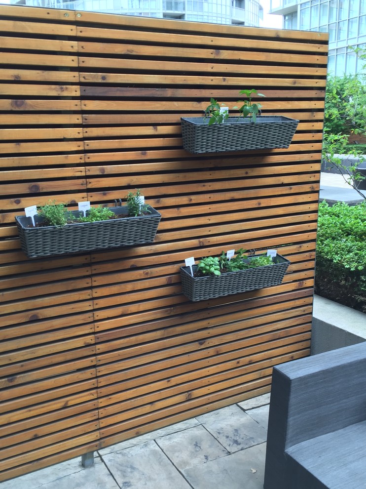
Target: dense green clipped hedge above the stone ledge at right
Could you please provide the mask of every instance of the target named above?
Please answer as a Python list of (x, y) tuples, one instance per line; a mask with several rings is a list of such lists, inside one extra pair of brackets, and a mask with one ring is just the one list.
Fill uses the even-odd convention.
[(366, 312), (366, 202), (319, 205), (315, 292)]

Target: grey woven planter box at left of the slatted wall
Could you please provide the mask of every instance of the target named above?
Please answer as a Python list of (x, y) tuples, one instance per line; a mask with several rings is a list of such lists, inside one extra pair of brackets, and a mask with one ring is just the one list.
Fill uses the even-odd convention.
[[(148, 208), (150, 214), (125, 217), (127, 206), (110, 207), (121, 218), (78, 222), (63, 227), (33, 227), (30, 217), (17, 216), (15, 219), (22, 250), (29, 258), (38, 258), (152, 243), (161, 214), (153, 207)], [(81, 215), (78, 211), (72, 214), (75, 217)], [(41, 216), (35, 216), (36, 223), (42, 220)]]

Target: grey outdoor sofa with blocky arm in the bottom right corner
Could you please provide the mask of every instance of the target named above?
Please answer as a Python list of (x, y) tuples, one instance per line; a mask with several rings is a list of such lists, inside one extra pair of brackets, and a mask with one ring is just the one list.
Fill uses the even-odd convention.
[(264, 489), (366, 488), (366, 342), (273, 369)]

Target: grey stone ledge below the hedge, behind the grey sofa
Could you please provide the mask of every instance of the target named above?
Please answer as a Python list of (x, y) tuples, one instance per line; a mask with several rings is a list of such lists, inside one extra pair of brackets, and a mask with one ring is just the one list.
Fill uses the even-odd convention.
[(314, 295), (311, 355), (366, 341), (366, 314)]

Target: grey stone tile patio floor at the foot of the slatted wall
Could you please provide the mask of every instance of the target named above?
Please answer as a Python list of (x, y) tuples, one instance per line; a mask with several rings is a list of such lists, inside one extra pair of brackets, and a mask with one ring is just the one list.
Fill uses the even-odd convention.
[(0, 489), (262, 489), (269, 394), (0, 483)]

